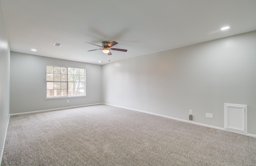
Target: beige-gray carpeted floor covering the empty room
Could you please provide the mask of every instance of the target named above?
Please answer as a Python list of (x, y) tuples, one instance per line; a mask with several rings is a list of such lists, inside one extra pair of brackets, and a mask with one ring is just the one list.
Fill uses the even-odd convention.
[(2, 166), (256, 166), (256, 138), (95, 105), (11, 116)]

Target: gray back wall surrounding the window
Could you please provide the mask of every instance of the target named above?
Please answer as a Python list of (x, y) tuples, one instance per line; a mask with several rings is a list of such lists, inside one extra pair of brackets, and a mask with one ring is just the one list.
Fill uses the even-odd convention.
[[(10, 113), (101, 103), (101, 65), (12, 51), (10, 54)], [(46, 65), (86, 69), (86, 97), (45, 100)]]

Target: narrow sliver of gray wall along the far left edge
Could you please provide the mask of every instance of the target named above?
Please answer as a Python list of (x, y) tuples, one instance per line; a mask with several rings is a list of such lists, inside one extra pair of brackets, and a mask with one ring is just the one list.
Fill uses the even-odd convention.
[(10, 110), (10, 48), (0, 3), (0, 164)]

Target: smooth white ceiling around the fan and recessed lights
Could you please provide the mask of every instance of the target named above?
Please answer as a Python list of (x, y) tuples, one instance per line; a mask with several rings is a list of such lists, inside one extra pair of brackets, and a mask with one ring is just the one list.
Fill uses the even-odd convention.
[(256, 30), (256, 0), (1, 1), (11, 51), (100, 65)]

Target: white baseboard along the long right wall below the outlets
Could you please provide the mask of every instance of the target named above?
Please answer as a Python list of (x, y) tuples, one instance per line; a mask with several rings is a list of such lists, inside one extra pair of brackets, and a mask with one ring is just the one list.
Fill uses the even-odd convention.
[(142, 113), (147, 113), (147, 114), (151, 114), (151, 115), (156, 115), (156, 116), (160, 116), (160, 117), (165, 117), (165, 118), (169, 118), (169, 119), (174, 119), (174, 120), (176, 120), (176, 121), (182, 121), (182, 122), (186, 122), (186, 123), (197, 124), (197, 125), (200, 125), (200, 126), (215, 128), (215, 129), (218, 129), (218, 130), (224, 130), (224, 131), (228, 131), (228, 132), (234, 132), (234, 133), (237, 133), (237, 134), (242, 134), (242, 135), (251, 136), (251, 137), (256, 138), (256, 135), (255, 135), (255, 134), (237, 132), (237, 131), (233, 131), (233, 130), (227, 130), (227, 129), (222, 128), (222, 127), (217, 127), (217, 126), (212, 126), (212, 125), (208, 125), (208, 124), (203, 124), (203, 123), (188, 121), (188, 120), (184, 120), (184, 119), (178, 119), (178, 118), (174, 118), (174, 117), (168, 117), (168, 116), (166, 116), (166, 115), (161, 115), (161, 114), (156, 114), (156, 113), (150, 113), (150, 112), (147, 112), (147, 111), (141, 111), (141, 110), (138, 110), (138, 109), (131, 109), (131, 108), (127, 108), (127, 107), (121, 107), (121, 106), (118, 106), (118, 105), (111, 105), (111, 104), (106, 104), (106, 103), (102, 103), (102, 104), (104, 104), (104, 105), (110, 105), (110, 106), (114, 106), (114, 107), (119, 107), (119, 108), (123, 108), (123, 109), (129, 109), (129, 110), (132, 110), (132, 111), (138, 111), (138, 112), (142, 112)]

